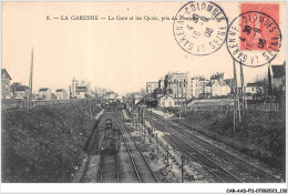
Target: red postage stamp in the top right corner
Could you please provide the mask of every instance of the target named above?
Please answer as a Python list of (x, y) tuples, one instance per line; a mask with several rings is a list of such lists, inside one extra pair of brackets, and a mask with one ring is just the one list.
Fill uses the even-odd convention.
[(241, 3), (240, 50), (278, 50), (279, 4)]

